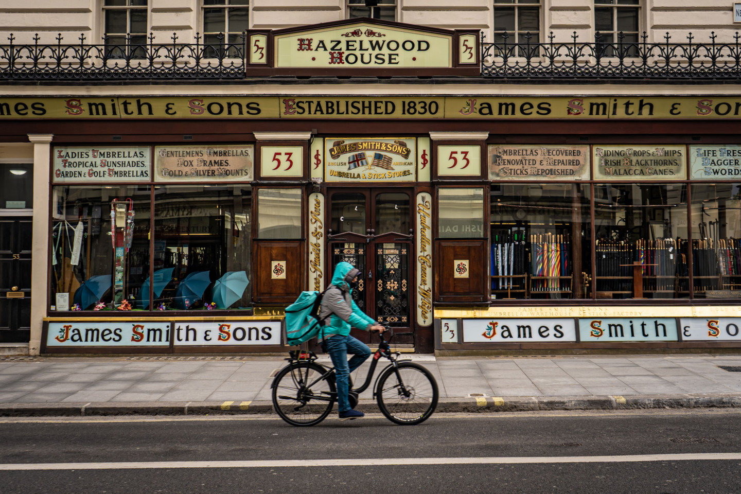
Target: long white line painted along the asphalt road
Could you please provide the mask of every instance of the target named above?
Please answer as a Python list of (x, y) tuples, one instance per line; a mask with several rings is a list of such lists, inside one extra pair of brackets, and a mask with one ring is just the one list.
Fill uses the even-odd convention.
[(0, 464), (0, 471), (13, 470), (124, 470), (157, 468), (286, 468), (286, 467), (367, 467), (373, 465), (476, 465), (534, 463), (635, 463), (643, 461), (729, 461), (741, 460), (741, 453), (684, 453), (668, 455), (609, 456), (514, 456), (482, 458), (341, 458), (326, 460), (253, 461), (119, 461), (110, 463), (16, 463)]

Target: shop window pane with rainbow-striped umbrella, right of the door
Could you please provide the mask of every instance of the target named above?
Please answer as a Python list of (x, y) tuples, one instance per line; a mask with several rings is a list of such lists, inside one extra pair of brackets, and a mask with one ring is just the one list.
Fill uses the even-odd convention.
[(589, 191), (492, 184), (492, 298), (591, 298)]

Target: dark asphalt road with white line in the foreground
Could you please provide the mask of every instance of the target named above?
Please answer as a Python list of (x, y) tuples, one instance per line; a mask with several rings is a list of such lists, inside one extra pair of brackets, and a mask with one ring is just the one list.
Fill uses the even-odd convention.
[(735, 410), (4, 418), (0, 492), (737, 494), (740, 430)]

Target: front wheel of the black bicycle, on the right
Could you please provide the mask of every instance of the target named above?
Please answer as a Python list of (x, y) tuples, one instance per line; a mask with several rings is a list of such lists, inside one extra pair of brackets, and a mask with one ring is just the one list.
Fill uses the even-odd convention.
[(376, 388), (381, 412), (394, 424), (413, 425), (427, 420), (437, 407), (437, 381), (432, 373), (413, 362), (388, 367)]

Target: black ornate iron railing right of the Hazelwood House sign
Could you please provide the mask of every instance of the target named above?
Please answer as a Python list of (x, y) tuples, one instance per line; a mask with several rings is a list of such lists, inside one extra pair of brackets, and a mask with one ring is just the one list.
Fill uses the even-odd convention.
[[(494, 43), (482, 39), (481, 75), (514, 81), (739, 81), (741, 35), (719, 42), (715, 32), (709, 42), (697, 43), (692, 33), (687, 41), (672, 42), (666, 33), (661, 42), (649, 43), (645, 32), (636, 34), (597, 33), (594, 42), (582, 43), (574, 32), (571, 41), (540, 43), (530, 33), (510, 42), (507, 33)], [(632, 38), (632, 39), (631, 39)], [(523, 42), (524, 40), (524, 42)]]

